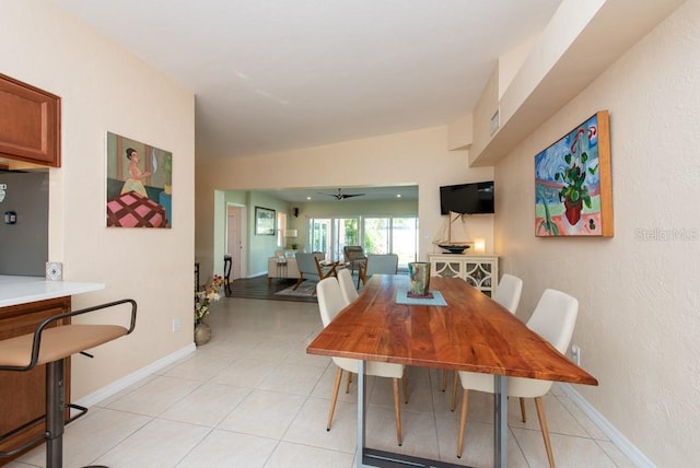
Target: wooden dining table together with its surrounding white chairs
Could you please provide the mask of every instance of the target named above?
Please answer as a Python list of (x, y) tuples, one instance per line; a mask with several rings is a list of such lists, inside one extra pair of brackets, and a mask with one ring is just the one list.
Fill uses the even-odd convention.
[[(493, 299), (457, 278), (430, 278), (430, 291), (434, 294), (430, 294), (429, 300), (407, 301), (408, 290), (410, 278), (396, 274), (373, 276), (361, 293), (348, 294), (348, 283), (343, 285), (341, 278), (329, 278), (318, 284), (324, 329), (306, 352), (331, 356), (338, 365), (328, 417), (329, 431), (342, 364), (354, 366), (347, 367), (348, 373), (357, 370), (357, 466), (464, 466), (460, 458), (470, 449), (469, 431), (465, 434), (470, 394), (477, 395), (476, 398), (483, 398), (479, 394), (492, 394), (493, 466), (511, 466), (509, 395), (514, 397), (513, 401), (520, 401), (523, 423), (526, 421), (524, 398), (534, 399), (542, 451), (547, 454), (548, 465), (556, 466), (542, 397), (550, 391), (553, 382), (597, 385), (594, 376), (563, 354), (573, 335), (578, 301), (560, 291), (546, 290), (525, 324), (514, 315), (522, 281), (518, 288), (509, 286), (505, 281), (502, 294), (499, 295), (497, 289)], [(435, 296), (441, 301), (433, 301)], [(387, 370), (377, 373), (377, 366), (395, 368), (393, 373)], [(452, 400), (451, 410), (456, 411), (458, 402), (462, 403), (453, 458), (422, 458), (407, 455), (404, 449), (400, 401), (408, 403), (411, 382), (401, 378), (399, 385), (397, 377), (405, 377), (407, 368), (427, 368), (434, 378), (441, 375), (441, 390), (452, 394), (451, 398), (445, 397)], [(373, 446), (374, 440), (366, 436), (368, 418), (372, 417), (368, 414), (365, 386), (371, 376), (394, 377), (396, 445), (392, 449), (386, 446), (377, 449)], [(355, 377), (349, 375), (347, 378), (349, 388), (350, 379)], [(448, 378), (453, 379), (450, 391)], [(402, 399), (398, 391), (401, 386)], [(462, 398), (457, 398), (459, 386)]]

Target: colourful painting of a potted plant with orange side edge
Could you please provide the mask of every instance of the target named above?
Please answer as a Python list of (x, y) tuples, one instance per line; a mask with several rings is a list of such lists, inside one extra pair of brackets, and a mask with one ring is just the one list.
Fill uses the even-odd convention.
[(600, 110), (535, 156), (535, 235), (612, 237), (610, 126)]

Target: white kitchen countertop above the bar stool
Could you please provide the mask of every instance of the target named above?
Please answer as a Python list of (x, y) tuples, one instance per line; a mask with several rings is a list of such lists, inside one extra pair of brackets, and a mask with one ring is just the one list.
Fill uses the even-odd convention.
[(104, 283), (47, 281), (42, 277), (0, 274), (0, 307), (104, 290)]

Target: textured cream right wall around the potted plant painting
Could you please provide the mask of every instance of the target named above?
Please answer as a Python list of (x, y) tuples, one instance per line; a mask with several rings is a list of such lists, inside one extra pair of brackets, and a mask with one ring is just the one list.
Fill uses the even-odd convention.
[[(545, 288), (579, 297), (572, 342), (600, 385), (576, 389), (664, 467), (698, 465), (699, 50), (690, 0), (495, 167), (497, 250), (524, 279), (518, 315)], [(599, 109), (610, 112), (615, 237), (536, 238), (534, 156)]]

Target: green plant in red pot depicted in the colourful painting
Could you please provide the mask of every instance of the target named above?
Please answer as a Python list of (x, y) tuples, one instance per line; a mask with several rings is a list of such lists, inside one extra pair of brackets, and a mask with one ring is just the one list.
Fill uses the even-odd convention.
[[(574, 143), (575, 144), (575, 143)], [(581, 219), (583, 206), (591, 208), (591, 195), (585, 185), (586, 174), (594, 175), (598, 166), (586, 167), (588, 153), (583, 151), (581, 155), (568, 153), (564, 155), (567, 167), (555, 174), (555, 180), (563, 183), (559, 191), (559, 200), (563, 201), (567, 220), (571, 225), (575, 225)]]

